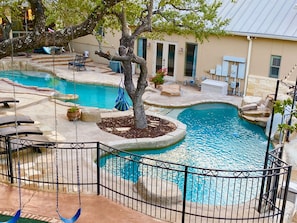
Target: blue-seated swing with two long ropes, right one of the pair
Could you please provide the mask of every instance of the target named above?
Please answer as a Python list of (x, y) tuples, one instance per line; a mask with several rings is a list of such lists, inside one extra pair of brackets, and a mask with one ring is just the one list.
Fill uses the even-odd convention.
[[(52, 31), (54, 31), (54, 30), (52, 30)], [(72, 33), (72, 35), (73, 35), (73, 33)], [(55, 39), (54, 39), (54, 45), (55, 45)], [(55, 51), (53, 53), (53, 72), (55, 73)], [(73, 81), (74, 81), (74, 94), (76, 94), (74, 69), (73, 69)], [(54, 79), (54, 88), (56, 86), (55, 82), (56, 81)], [(74, 121), (74, 122), (75, 122), (75, 139), (76, 139), (76, 142), (77, 142), (77, 123), (76, 123), (76, 121)], [(78, 147), (76, 147), (76, 164), (77, 164), (76, 165), (76, 173), (77, 173), (78, 205), (79, 205), (79, 208), (71, 218), (65, 218), (60, 214), (60, 211), (59, 211), (59, 166), (58, 166), (58, 158), (59, 158), (58, 149), (59, 149), (59, 146), (58, 146), (58, 136), (57, 136), (58, 122), (57, 122), (57, 103), (56, 103), (56, 100), (55, 100), (55, 133), (56, 133), (55, 134), (55, 141), (56, 141), (55, 149), (56, 149), (56, 192), (57, 192), (56, 193), (56, 212), (59, 215), (59, 218), (61, 219), (61, 221), (65, 222), (65, 223), (74, 223), (74, 222), (76, 222), (78, 220), (78, 218), (79, 218), (79, 216), (81, 214), (81, 196), (80, 196), (80, 179), (79, 179), (79, 165), (78, 165)]]

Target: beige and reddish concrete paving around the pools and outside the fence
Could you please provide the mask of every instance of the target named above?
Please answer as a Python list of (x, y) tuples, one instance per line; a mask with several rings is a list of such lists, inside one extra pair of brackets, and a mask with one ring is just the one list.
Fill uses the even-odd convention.
[[(73, 72), (68, 70), (67, 66), (55, 67), (58, 76), (78, 82), (98, 83), (117, 86), (121, 80), (120, 74), (106, 74), (101, 71), (100, 67), (91, 67), (86, 71)], [(135, 75), (135, 79), (137, 75)], [(38, 90), (33, 88), (23, 88), (13, 86), (5, 81), (0, 81), (0, 94), (2, 97), (16, 97), (20, 103), (16, 108), (11, 104), (10, 108), (0, 108), (0, 115), (14, 114), (15, 111), (20, 114), (30, 115), (33, 120), (37, 121), (40, 129), (47, 133), (48, 136), (54, 137), (54, 131), (58, 132), (58, 139), (65, 141), (100, 141), (109, 144), (110, 142), (121, 141), (123, 138), (111, 135), (100, 130), (96, 123), (90, 122), (69, 122), (66, 117), (66, 106), (60, 103), (53, 103), (49, 100), (51, 91)], [(172, 111), (172, 107), (186, 107), (202, 102), (227, 102), (236, 106), (241, 105), (241, 97), (222, 96), (203, 94), (197, 88), (191, 86), (181, 86), (181, 96), (164, 96), (160, 95), (158, 90), (149, 87), (143, 96), (146, 105), (146, 111), (155, 114), (166, 115)], [(165, 108), (164, 108), (165, 107)], [(102, 111), (102, 116), (124, 114), (123, 112)], [(126, 112), (127, 114), (131, 112)], [(56, 115), (54, 115), (56, 114)], [(174, 114), (173, 114), (174, 116)], [(57, 125), (55, 125), (55, 118)], [(74, 131), (69, 128), (77, 128), (78, 138)], [(293, 148), (293, 147), (292, 147)], [(16, 188), (2, 185), (0, 191), (4, 196), (0, 197), (0, 211), (8, 211), (13, 214), (18, 209), (18, 191)], [(55, 211), (55, 194), (39, 191), (27, 191), (22, 189), (22, 200), (24, 203), (23, 213), (26, 215), (42, 216), (52, 218), (49, 222), (59, 222), (56, 220)], [(77, 203), (73, 202), (76, 196), (63, 194), (61, 195), (61, 207), (66, 207), (66, 212), (75, 213)], [(44, 204), (44, 200), (47, 200)], [(8, 202), (9, 201), (9, 202)], [(82, 197), (82, 215), (78, 222), (162, 222), (149, 216), (133, 211), (118, 205), (101, 196), (83, 196)], [(69, 214), (69, 213), (67, 213)], [(94, 219), (98, 219), (94, 221)]]

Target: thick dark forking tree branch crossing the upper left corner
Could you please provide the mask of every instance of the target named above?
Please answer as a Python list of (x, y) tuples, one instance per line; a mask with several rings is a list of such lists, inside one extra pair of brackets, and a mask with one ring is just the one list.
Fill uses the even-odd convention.
[(30, 0), (31, 7), (36, 13), (34, 31), (23, 37), (1, 42), (0, 59), (12, 53), (24, 52), (43, 46), (65, 46), (75, 38), (91, 34), (97, 22), (105, 15), (106, 9), (120, 1), (105, 1), (106, 4), (98, 5), (83, 23), (49, 33), (45, 26), (46, 16), (42, 1)]

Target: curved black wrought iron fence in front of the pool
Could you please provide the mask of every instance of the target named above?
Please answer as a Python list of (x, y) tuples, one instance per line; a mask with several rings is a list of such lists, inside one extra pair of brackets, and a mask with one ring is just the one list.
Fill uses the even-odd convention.
[[(169, 222), (283, 222), (291, 167), (214, 170), (150, 159), (99, 142), (1, 139), (2, 181), (94, 193)], [(12, 152), (14, 151), (14, 152)], [(20, 173), (20, 176), (18, 176)], [(263, 189), (261, 193), (261, 189)]]

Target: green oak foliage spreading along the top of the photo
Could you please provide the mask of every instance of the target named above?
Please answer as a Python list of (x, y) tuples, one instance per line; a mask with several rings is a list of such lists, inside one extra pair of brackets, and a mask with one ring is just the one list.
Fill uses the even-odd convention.
[[(7, 6), (14, 14), (14, 18), (22, 18), (20, 6), (23, 2), (28, 4), (28, 1), (22, 0), (2, 0), (0, 15), (4, 17)], [(110, 2), (110, 0), (43, 1), (46, 8), (46, 23), (55, 24), (56, 29), (77, 25), (85, 21), (91, 13), (96, 13), (94, 11), (96, 7), (106, 7)], [(132, 31), (138, 30), (135, 38), (153, 31), (157, 32), (158, 38), (164, 33), (193, 34), (202, 42), (210, 35), (224, 34), (223, 28), (228, 24), (228, 20), (217, 17), (217, 10), (221, 4), (220, 1), (207, 0), (124, 0), (107, 8), (103, 20), (97, 23), (98, 26), (114, 30), (129, 26)]]

